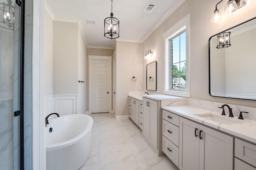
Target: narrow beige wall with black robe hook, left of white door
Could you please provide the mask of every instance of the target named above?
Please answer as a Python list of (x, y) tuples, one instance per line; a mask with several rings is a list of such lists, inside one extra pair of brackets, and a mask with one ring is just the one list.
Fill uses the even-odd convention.
[(78, 27), (78, 80), (85, 81), (84, 83), (78, 83), (78, 98), (77, 98), (77, 113), (85, 114), (88, 108), (86, 104), (86, 44), (82, 35), (80, 27)]

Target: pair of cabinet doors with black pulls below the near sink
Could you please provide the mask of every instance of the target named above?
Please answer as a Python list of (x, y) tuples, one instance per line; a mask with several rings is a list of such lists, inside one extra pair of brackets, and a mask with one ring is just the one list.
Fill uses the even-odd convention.
[(180, 170), (233, 170), (233, 137), (180, 117)]

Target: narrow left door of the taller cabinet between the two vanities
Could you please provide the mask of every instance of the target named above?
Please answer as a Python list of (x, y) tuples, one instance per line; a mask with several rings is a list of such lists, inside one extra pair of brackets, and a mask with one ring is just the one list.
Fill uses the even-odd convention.
[(149, 110), (148, 101), (143, 100), (142, 133), (147, 139), (149, 137)]

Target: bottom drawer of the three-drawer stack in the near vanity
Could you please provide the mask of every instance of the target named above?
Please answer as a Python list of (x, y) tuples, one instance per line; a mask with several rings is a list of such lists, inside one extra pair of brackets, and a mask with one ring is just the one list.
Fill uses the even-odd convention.
[(163, 152), (176, 165), (179, 166), (179, 148), (163, 136)]

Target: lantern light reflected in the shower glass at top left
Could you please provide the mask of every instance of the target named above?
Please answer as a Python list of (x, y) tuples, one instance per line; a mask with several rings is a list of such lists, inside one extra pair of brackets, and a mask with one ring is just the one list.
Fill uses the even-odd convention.
[(12, 6), (12, 0), (7, 0), (0, 3), (0, 11), (2, 11), (2, 21), (0, 21), (0, 27), (13, 30), (14, 25), (14, 6)]

